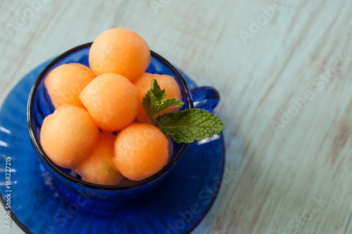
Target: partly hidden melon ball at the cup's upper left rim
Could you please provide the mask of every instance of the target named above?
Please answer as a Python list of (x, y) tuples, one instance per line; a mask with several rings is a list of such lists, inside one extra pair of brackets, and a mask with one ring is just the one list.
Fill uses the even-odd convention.
[(80, 63), (69, 63), (51, 70), (45, 77), (44, 84), (55, 108), (64, 104), (84, 108), (78, 96), (94, 77), (89, 67)]

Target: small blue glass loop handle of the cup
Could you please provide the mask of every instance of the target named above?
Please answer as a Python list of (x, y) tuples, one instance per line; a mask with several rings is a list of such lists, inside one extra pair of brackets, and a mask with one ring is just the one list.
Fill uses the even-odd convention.
[(212, 112), (220, 100), (219, 92), (210, 86), (201, 86), (191, 89), (194, 108)]

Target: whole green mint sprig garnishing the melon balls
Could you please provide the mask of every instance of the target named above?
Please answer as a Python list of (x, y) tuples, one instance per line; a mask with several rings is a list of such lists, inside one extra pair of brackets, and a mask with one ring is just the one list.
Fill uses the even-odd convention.
[(164, 97), (165, 89), (161, 90), (156, 79), (152, 78), (151, 89), (146, 92), (142, 105), (146, 115), (153, 120), (153, 124), (177, 143), (201, 141), (206, 137), (212, 137), (213, 134), (220, 134), (225, 129), (222, 120), (207, 110), (187, 109), (158, 116), (170, 107), (184, 105), (177, 98)]

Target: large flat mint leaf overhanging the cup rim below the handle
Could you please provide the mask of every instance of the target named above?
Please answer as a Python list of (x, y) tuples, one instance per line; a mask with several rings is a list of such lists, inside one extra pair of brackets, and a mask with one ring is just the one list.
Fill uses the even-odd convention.
[(170, 112), (156, 119), (157, 126), (164, 134), (172, 136), (177, 143), (201, 141), (225, 129), (222, 120), (207, 110), (189, 109)]

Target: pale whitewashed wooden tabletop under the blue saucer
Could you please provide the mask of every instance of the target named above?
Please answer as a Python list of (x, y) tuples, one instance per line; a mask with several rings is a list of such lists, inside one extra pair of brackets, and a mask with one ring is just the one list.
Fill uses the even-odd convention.
[[(234, 172), (193, 233), (352, 233), (351, 12), (347, 0), (1, 0), (0, 103), (45, 60), (127, 27), (221, 93)], [(0, 233), (23, 233), (4, 214)]]

